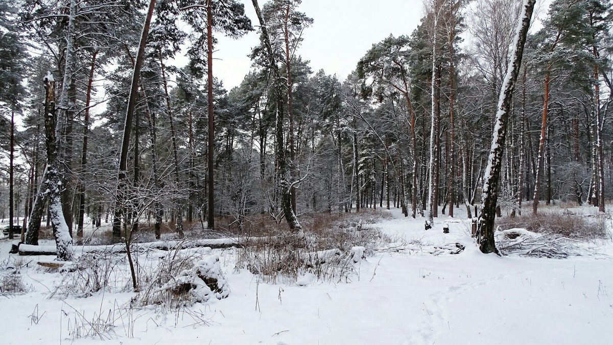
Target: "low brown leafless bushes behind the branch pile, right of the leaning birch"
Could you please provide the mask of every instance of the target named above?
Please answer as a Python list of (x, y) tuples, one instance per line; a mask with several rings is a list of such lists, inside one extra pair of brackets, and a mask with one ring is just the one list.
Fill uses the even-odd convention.
[(514, 228), (526, 229), (536, 233), (550, 233), (577, 240), (608, 238), (606, 214), (603, 216), (585, 216), (564, 211), (563, 213), (527, 214), (515, 218), (496, 219), (501, 230)]

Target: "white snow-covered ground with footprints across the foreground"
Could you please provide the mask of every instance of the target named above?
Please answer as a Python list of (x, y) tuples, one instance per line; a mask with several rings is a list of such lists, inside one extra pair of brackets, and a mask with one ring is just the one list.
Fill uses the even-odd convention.
[[(37, 257), (25, 257), (32, 260), (22, 270), (30, 292), (0, 297), (0, 344), (99, 344), (100, 336), (74, 340), (75, 320), (109, 313), (108, 344), (611, 343), (610, 241), (589, 244), (598, 254), (564, 260), (498, 257), (470, 245), (459, 220), (447, 220), (451, 233), (443, 234), (444, 218), (425, 231), (423, 219), (392, 213), (394, 219), (378, 227), (398, 241), (468, 246), (457, 255), (377, 252), (356, 264), (358, 273), (348, 282), (307, 286), (258, 282), (246, 270), (234, 271), (232, 250), (215, 250), (230, 296), (166, 314), (122, 309), (129, 292), (49, 298), (59, 274), (39, 270)], [(2, 268), (15, 260), (9, 246), (0, 243)]]

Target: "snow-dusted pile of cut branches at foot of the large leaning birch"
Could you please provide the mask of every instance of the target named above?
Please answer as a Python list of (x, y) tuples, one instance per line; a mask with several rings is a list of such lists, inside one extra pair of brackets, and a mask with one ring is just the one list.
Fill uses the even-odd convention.
[(497, 230), (496, 246), (501, 254), (565, 259), (581, 255), (577, 240), (557, 233), (536, 233), (526, 229)]

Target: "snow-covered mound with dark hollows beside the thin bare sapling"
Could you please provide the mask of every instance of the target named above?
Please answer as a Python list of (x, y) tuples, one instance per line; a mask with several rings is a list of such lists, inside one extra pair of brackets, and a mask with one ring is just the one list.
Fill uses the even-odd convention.
[[(185, 261), (181, 265), (185, 265)], [(197, 261), (193, 267), (167, 278), (168, 281), (161, 287), (152, 285), (145, 290), (140, 295), (139, 304), (178, 308), (213, 299), (221, 300), (230, 294), (217, 256), (208, 256)]]

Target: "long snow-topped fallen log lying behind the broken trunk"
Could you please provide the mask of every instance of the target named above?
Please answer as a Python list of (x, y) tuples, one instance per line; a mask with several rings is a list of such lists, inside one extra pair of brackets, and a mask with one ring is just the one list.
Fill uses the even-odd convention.
[[(184, 240), (184, 241), (156, 241), (150, 243), (133, 243), (132, 251), (149, 251), (157, 249), (161, 251), (170, 251), (175, 249), (189, 249), (209, 247), (211, 249), (225, 249), (242, 246), (238, 238), (216, 238), (211, 240)], [(75, 252), (126, 252), (124, 243), (107, 246), (75, 246)], [(21, 244), (19, 246), (20, 256), (39, 256), (39, 255), (56, 255), (55, 246), (32, 246)]]

